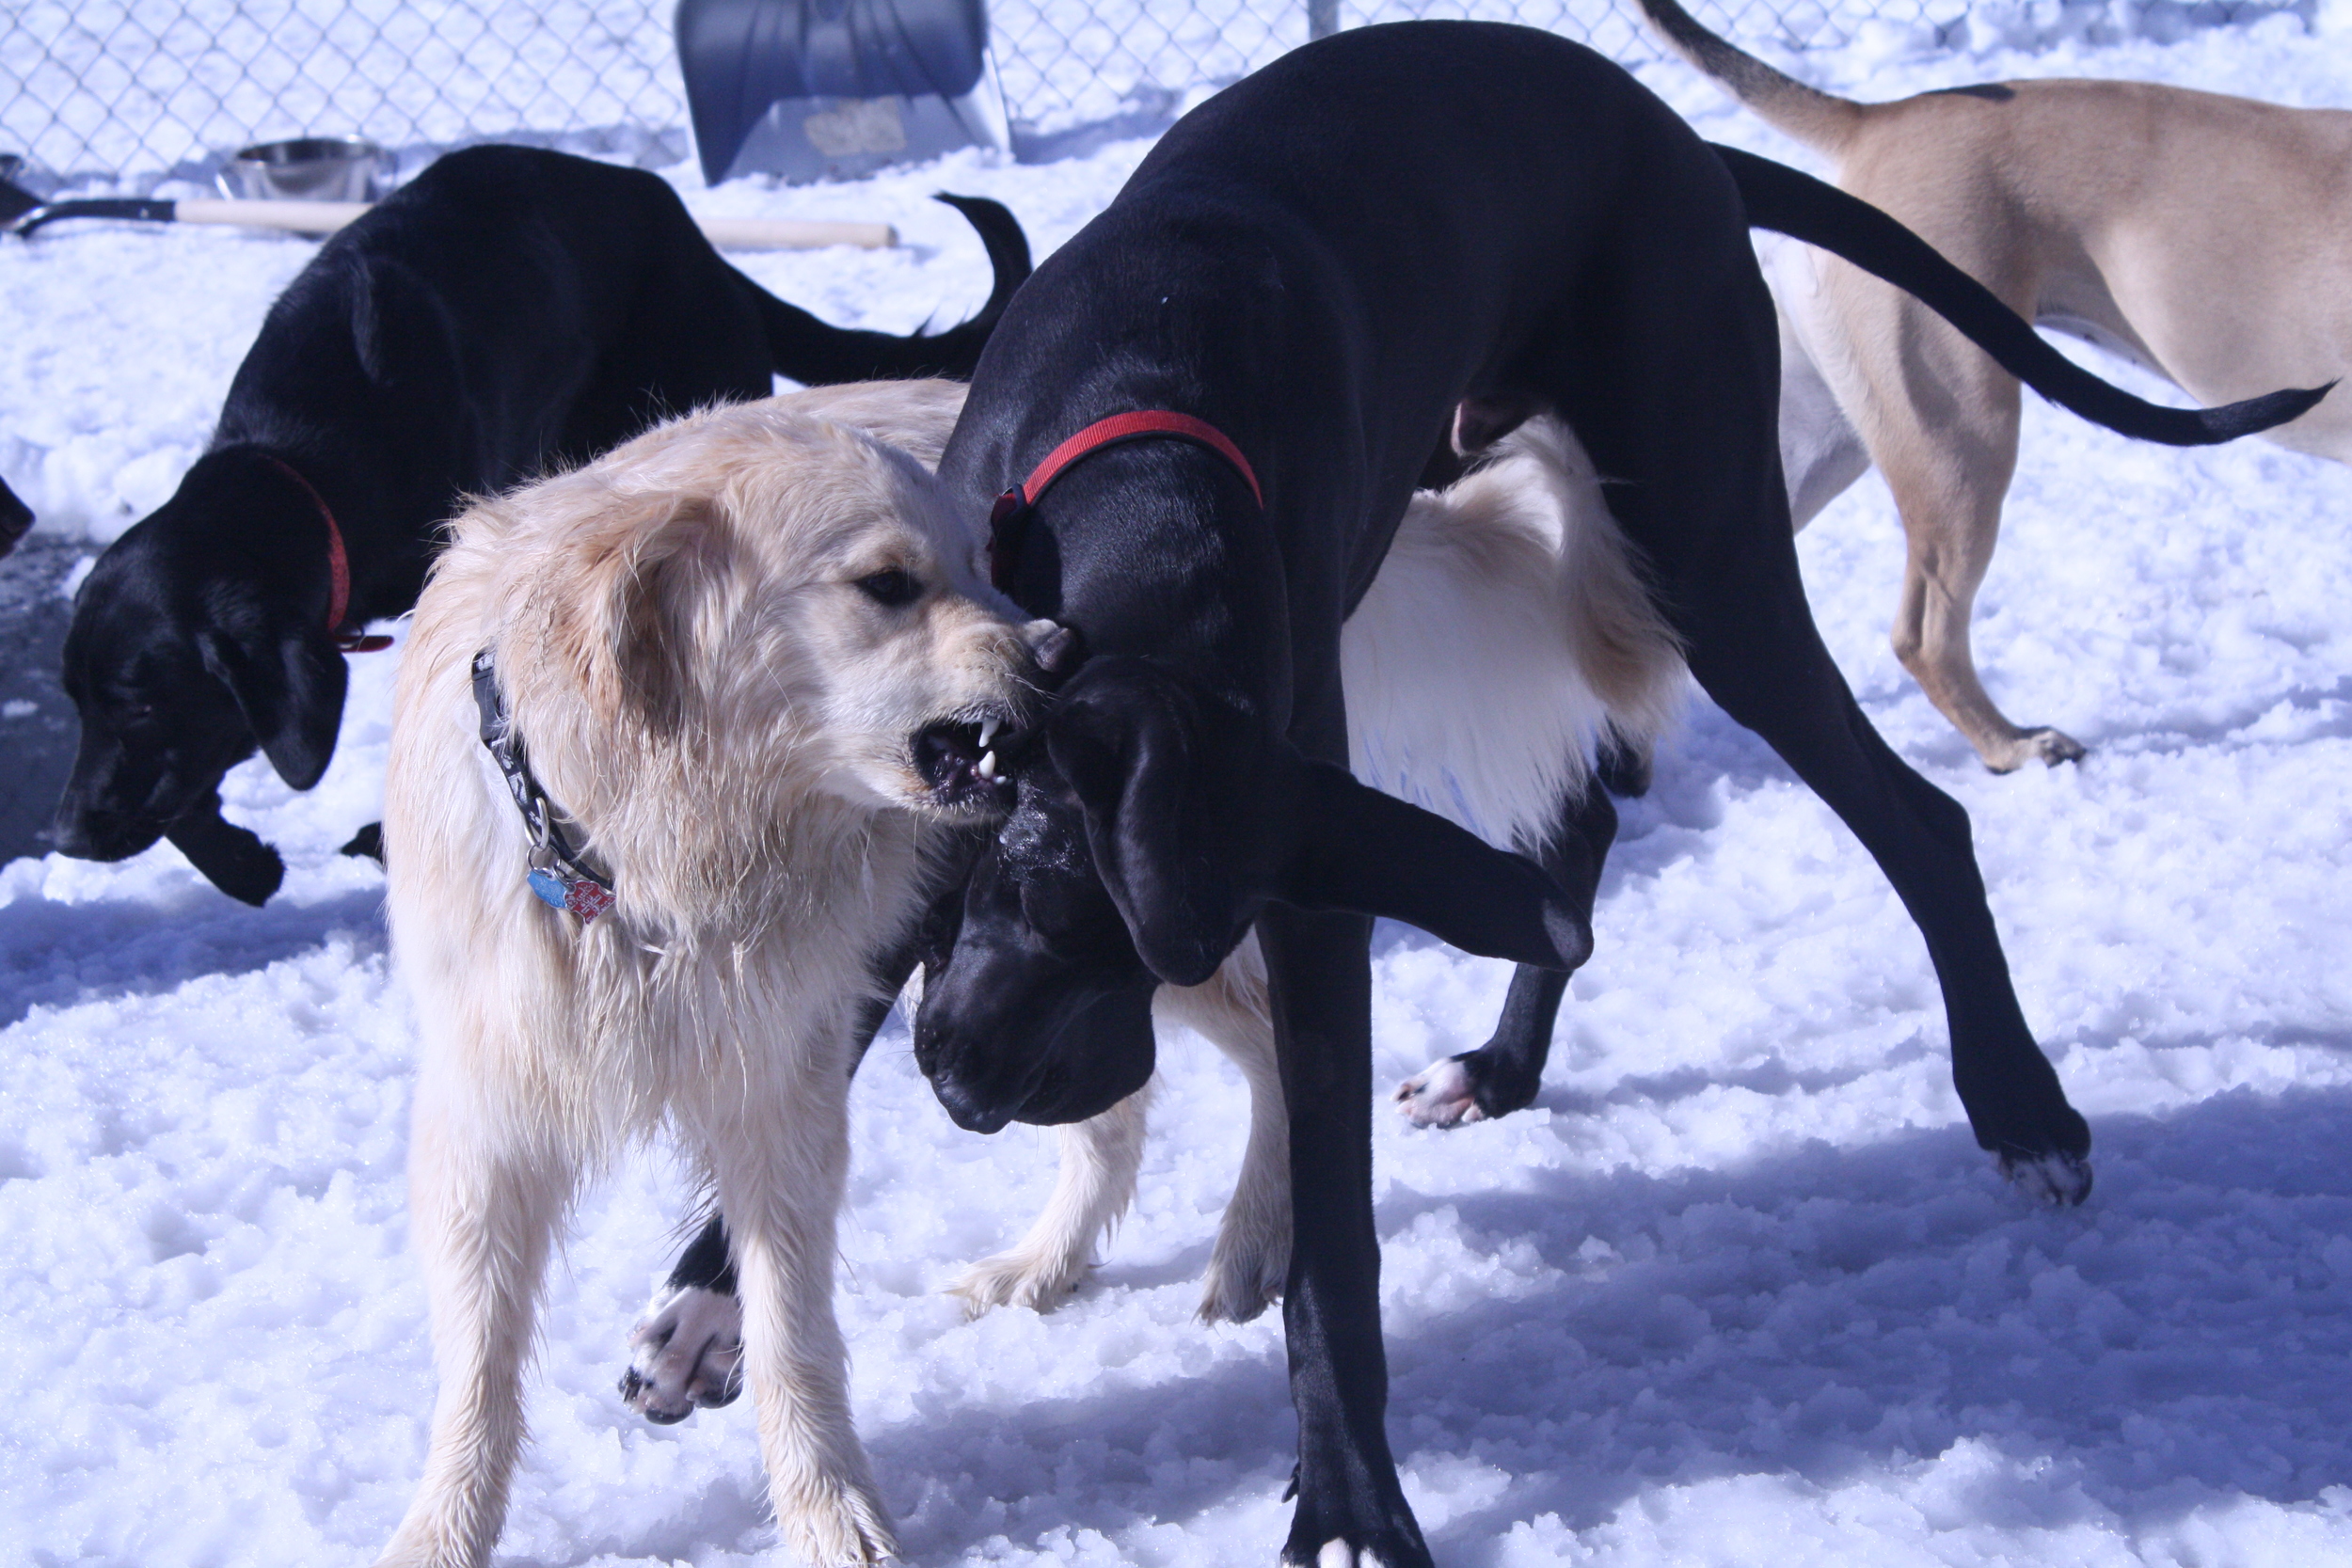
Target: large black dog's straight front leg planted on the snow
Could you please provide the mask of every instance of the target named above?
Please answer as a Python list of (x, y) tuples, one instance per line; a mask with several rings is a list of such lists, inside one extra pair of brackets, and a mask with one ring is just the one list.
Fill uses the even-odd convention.
[(1291, 1119), (1291, 1272), (1282, 1331), (1298, 1408), (1298, 1514), (1284, 1563), (1430, 1561), (1388, 1450), (1381, 1237), (1371, 1222), (1371, 922), (1258, 917)]

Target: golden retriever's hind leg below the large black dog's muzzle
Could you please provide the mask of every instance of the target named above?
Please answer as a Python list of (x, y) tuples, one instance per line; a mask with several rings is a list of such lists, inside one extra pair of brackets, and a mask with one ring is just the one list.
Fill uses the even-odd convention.
[(1051, 1312), (1094, 1267), (1094, 1244), (1136, 1199), (1143, 1166), (1143, 1131), (1152, 1086), (1145, 1084), (1101, 1117), (1054, 1128), (1061, 1135), (1061, 1171), (1044, 1213), (1011, 1248), (981, 1258), (950, 1286), (964, 1312), (990, 1307)]

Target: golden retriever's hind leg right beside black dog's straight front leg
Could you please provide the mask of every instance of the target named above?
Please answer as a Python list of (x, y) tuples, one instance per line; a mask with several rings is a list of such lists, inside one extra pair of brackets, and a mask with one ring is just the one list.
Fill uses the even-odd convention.
[(1157, 1011), (1197, 1030), (1249, 1084), (1249, 1143), (1200, 1291), (1204, 1324), (1247, 1324), (1282, 1300), (1291, 1272), (1291, 1121), (1282, 1105), (1265, 959), (1249, 936), (1207, 985), (1160, 987)]

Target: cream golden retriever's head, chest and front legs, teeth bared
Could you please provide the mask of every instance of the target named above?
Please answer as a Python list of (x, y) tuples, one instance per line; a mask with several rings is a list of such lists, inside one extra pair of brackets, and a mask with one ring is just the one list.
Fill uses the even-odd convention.
[[(974, 527), (887, 444), (936, 461), (960, 400), (851, 386), (682, 418), (475, 505), (419, 599), (383, 842), (440, 1399), (386, 1563), (489, 1559), (548, 1246), (581, 1178), (656, 1128), (727, 1208), (786, 1542), (894, 1549), (833, 1319), (854, 1023), (929, 891), (931, 825), (995, 811), (988, 745), (1054, 630), (1016, 623)], [(600, 877), (609, 910), (548, 907), (532, 865)]]

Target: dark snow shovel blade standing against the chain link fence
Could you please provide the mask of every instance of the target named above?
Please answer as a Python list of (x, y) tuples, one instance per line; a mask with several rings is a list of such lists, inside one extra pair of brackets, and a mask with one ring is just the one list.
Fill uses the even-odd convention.
[(985, 0), (677, 0), (675, 26), (713, 186), (1011, 148)]

